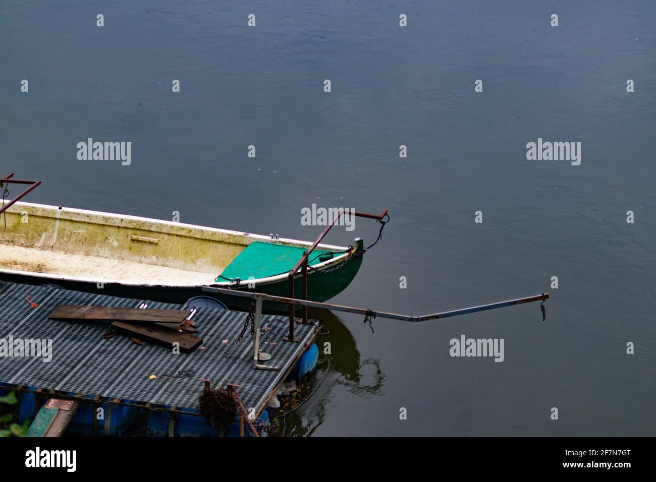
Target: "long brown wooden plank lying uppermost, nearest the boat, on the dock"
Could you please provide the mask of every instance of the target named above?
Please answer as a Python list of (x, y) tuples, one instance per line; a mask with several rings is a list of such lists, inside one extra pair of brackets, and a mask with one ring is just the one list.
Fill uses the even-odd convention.
[(52, 311), (50, 319), (84, 321), (131, 321), (133, 323), (176, 323), (180, 325), (189, 310), (154, 310), (150, 308), (115, 308), (108, 306), (60, 305)]

